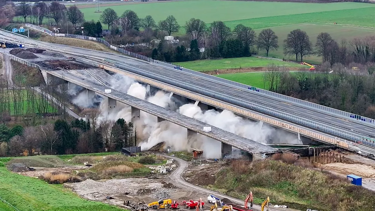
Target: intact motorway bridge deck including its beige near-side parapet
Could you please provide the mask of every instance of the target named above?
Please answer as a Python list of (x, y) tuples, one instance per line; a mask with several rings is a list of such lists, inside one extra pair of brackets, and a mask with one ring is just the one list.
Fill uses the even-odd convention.
[[(168, 86), (177, 87), (179, 90), (187, 90), (188, 92), (193, 93), (194, 96), (190, 94), (187, 96), (185, 95), (186, 97), (200, 100), (202, 103), (210, 104), (214, 107), (232, 110), (234, 113), (238, 113), (242, 116), (266, 122), (315, 140), (338, 144), (346, 148), (374, 152), (374, 149), (372, 148), (356, 144), (359, 141), (364, 140), (364, 137), (375, 137), (375, 124), (371, 124), (370, 122), (345, 118), (334, 113), (329, 113), (323, 110), (320, 111), (302, 106), (298, 103), (283, 101), (281, 99), (263, 95), (257, 93), (256, 90), (239, 89), (230, 84), (220, 83), (178, 69), (167, 68), (158, 65), (157, 63), (145, 62), (119, 54), (38, 42), (6, 32), (1, 32), (0, 38), (1, 37), (15, 42), (23, 42), (30, 47), (37, 46), (47, 50), (73, 54), (75, 56), (84, 56), (89, 59), (94, 66), (99, 66), (100, 63), (102, 63), (101, 68), (113, 71), (114, 67), (117, 67), (117, 73), (128, 76), (129, 73), (131, 73), (133, 74), (133, 78), (136, 78), (137, 80), (142, 81), (143, 79), (151, 79), (163, 82)], [(103, 63), (106, 63), (107, 65), (103, 65)], [(120, 71), (118, 71), (118, 69), (120, 69)], [(135, 75), (138, 77), (135, 77)], [(130, 77), (132, 76), (130, 75)], [(145, 81), (147, 80), (143, 80), (143, 82)], [(168, 87), (166, 88), (165, 86), (160, 87), (157, 84), (150, 85), (168, 90)], [(183, 95), (183, 92), (178, 92), (178, 90), (174, 93)], [(198, 95), (206, 96), (208, 98), (194, 98)], [(225, 105), (229, 104), (231, 106), (223, 106), (224, 104), (219, 104), (217, 102), (223, 102)], [(264, 115), (254, 115), (255, 112)], [(264, 118), (265, 116), (266, 118)], [(279, 121), (278, 124), (275, 124), (274, 121), (270, 121), (269, 117), (276, 117), (281, 121)], [(300, 127), (294, 127), (293, 124), (279, 124), (283, 120), (288, 123), (300, 125)], [(301, 129), (304, 127), (306, 127), (307, 130)], [(320, 132), (325, 135), (321, 136), (322, 133)], [(327, 139), (327, 137), (329, 137), (329, 139)], [(338, 139), (337, 137), (344, 139)], [(345, 145), (342, 143), (345, 143)]]

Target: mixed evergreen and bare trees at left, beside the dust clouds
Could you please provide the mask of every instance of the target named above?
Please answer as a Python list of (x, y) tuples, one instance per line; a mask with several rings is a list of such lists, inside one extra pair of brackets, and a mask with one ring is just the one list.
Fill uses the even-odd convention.
[[(95, 113), (95, 112), (94, 112)], [(24, 150), (29, 155), (40, 148), (42, 154), (72, 154), (118, 151), (123, 147), (136, 146), (136, 129), (124, 119), (103, 121), (92, 126), (95, 116), (87, 121), (75, 119), (68, 122), (58, 119), (54, 124), (12, 128), (0, 124), (0, 146), (7, 144), (6, 154), (20, 155)], [(94, 118), (94, 119), (93, 119)], [(95, 120), (94, 120), (95, 121)]]

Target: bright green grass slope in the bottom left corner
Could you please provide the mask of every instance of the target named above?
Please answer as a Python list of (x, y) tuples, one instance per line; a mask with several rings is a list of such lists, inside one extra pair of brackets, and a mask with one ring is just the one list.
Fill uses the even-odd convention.
[[(101, 202), (82, 199), (62, 185), (51, 185), (0, 167), (0, 197), (22, 211), (120, 211)], [(0, 202), (1, 211), (14, 211)]]

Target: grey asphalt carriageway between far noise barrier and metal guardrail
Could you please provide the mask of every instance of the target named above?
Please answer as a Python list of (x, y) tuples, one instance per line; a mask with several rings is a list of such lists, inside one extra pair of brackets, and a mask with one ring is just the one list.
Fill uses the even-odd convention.
[[(13, 35), (14, 36), (14, 35)], [(17, 39), (23, 39), (17, 36)], [(25, 41), (30, 42), (30, 40), (25, 39)], [(36, 41), (33, 41), (37, 43)], [(40, 43), (40, 42), (39, 42)], [(237, 99), (241, 99), (243, 101), (251, 103), (257, 103), (261, 105), (266, 105), (268, 107), (272, 107), (275, 110), (280, 112), (289, 112), (291, 114), (296, 114), (305, 118), (309, 118), (311, 120), (324, 122), (325, 124), (332, 125), (336, 128), (341, 128), (347, 131), (354, 131), (356, 133), (360, 133), (363, 136), (375, 136), (375, 126), (369, 124), (363, 124), (359, 121), (354, 120), (347, 120), (341, 118), (339, 116), (330, 115), (323, 112), (317, 112), (316, 110), (312, 110), (309, 108), (301, 107), (298, 104), (293, 104), (290, 102), (283, 102), (277, 99), (270, 98), (266, 95), (259, 95), (252, 92), (245, 92), (243, 90), (237, 89), (235, 87), (221, 84), (216, 81), (210, 81), (205, 78), (200, 78), (195, 75), (187, 74), (182, 71), (178, 71), (171, 68), (165, 68), (154, 63), (148, 63), (141, 60), (132, 59), (126, 56), (121, 56), (118, 54), (113, 53), (105, 53), (75, 47), (67, 47), (64, 45), (57, 45), (57, 44), (47, 44), (46, 45), (55, 47), (55, 48), (65, 48), (66, 50), (70, 51), (67, 53), (75, 54), (75, 55), (87, 55), (91, 57), (96, 57), (98, 59), (110, 59), (114, 60), (118, 63), (122, 63), (123, 65), (128, 65), (129, 67), (137, 67), (142, 70), (147, 70), (148, 72), (152, 72), (153, 74), (163, 75), (166, 79), (173, 79), (179, 80), (182, 82), (190, 83), (193, 86), (199, 86), (202, 89), (206, 90), (214, 90), (217, 94), (229, 95), (234, 96)], [(130, 68), (129, 68), (129, 71)]]

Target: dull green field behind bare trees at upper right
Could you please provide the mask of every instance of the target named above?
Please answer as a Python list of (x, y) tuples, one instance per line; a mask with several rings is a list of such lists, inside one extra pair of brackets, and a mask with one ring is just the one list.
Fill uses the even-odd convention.
[[(269, 56), (291, 59), (291, 60), (295, 60), (296, 56), (294, 55), (284, 56), (282, 46), (283, 46), (283, 41), (285, 38), (287, 38), (288, 33), (294, 29), (301, 29), (303, 31), (306, 31), (306, 33), (310, 37), (310, 41), (312, 42), (313, 47), (315, 47), (317, 36), (321, 32), (329, 33), (332, 36), (332, 38), (338, 42), (340, 42), (341, 39), (347, 39), (347, 41), (350, 41), (353, 38), (361, 38), (365, 36), (375, 35), (375, 29), (347, 27), (347, 26), (340, 26), (340, 25), (334, 25), (334, 24), (327, 25), (327, 24), (320, 24), (320, 23), (303, 23), (303, 24), (294, 24), (294, 25), (287, 25), (287, 26), (277, 26), (277, 27), (271, 27), (271, 29), (279, 37), (279, 48), (277, 51), (275, 50), (270, 51)], [(257, 34), (259, 34), (260, 31), (261, 29), (255, 30)], [(259, 55), (265, 56), (266, 52), (260, 51)], [(306, 62), (311, 62), (311, 63), (321, 63), (321, 57), (317, 57), (315, 55), (306, 56), (304, 57), (303, 60)]]

